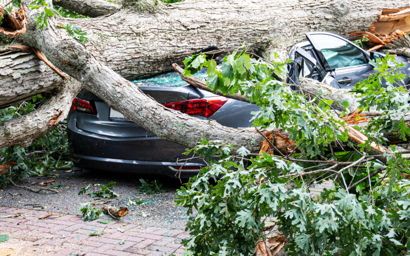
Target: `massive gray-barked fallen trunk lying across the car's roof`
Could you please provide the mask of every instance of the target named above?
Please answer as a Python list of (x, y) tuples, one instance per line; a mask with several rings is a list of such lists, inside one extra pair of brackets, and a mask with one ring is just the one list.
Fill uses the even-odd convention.
[[(126, 79), (172, 70), (172, 63), (209, 46), (232, 48), (245, 41), (264, 56), (284, 60), (304, 33), (322, 30), (348, 36), (367, 29), (382, 8), (410, 6), (396, 0), (186, 0), (159, 5), (125, 1), (109, 17), (73, 20), (87, 31), (87, 50)], [(63, 20), (61, 20), (63, 22)]]

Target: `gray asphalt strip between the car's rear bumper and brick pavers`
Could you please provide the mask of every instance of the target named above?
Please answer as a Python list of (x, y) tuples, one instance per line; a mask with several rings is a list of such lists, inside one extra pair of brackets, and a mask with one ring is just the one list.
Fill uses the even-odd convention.
[[(148, 202), (144, 205), (127, 206), (129, 212), (121, 218), (123, 222), (147, 227), (185, 229), (187, 220), (186, 210), (183, 207), (175, 206), (174, 203), (176, 190), (181, 187), (178, 179), (154, 175), (137, 176), (124, 173), (91, 172), (88, 170), (71, 171), (69, 173), (65, 173), (64, 170), (56, 170), (51, 172), (51, 174), (59, 176), (55, 178), (30, 177), (24, 179), (24, 184), (20, 185), (37, 189), (40, 187), (38, 183), (55, 179), (55, 183), (61, 184), (61, 187), (55, 188), (59, 191), (58, 194), (49, 191), (33, 193), (23, 188), (8, 185), (0, 191), (0, 206), (34, 209), (31, 204), (40, 204), (47, 211), (76, 214), (76, 212), (79, 213), (77, 208), (81, 203), (98, 200), (98, 198), (91, 198), (89, 195), (79, 196), (78, 191), (81, 188), (86, 187), (88, 184), (107, 185), (110, 181), (115, 181), (116, 185), (113, 186), (112, 190), (119, 197), (111, 199), (111, 202), (108, 204), (116, 207), (127, 206), (128, 199), (132, 201), (145, 200)], [(150, 181), (156, 179), (157, 182), (162, 183), (161, 188), (167, 190), (167, 192), (153, 195), (141, 193), (137, 189), (137, 186), (140, 185), (140, 178), (149, 179)], [(34, 182), (36, 184), (31, 185)], [(184, 181), (182, 180), (182, 182)], [(50, 184), (47, 186), (50, 186)], [(13, 199), (9, 193), (20, 195), (15, 195)], [(101, 218), (109, 219), (111, 217), (103, 216)]]

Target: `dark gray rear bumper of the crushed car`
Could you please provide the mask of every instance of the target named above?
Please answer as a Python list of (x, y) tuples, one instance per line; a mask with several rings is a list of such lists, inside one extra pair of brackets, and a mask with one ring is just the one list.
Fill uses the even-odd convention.
[[(112, 137), (81, 130), (76, 125), (76, 113), (71, 111), (67, 118), (67, 133), (70, 154), (75, 167), (100, 169), (116, 172), (131, 172), (175, 177), (176, 164), (186, 147), (167, 142), (158, 137)], [(174, 167), (174, 169), (170, 168)], [(185, 166), (205, 166), (191, 161)], [(182, 170), (180, 177), (189, 178), (198, 170)]]

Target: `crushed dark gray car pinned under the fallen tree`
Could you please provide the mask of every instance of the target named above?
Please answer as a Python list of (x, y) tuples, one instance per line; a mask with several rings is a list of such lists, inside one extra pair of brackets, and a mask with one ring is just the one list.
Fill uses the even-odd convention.
[[(289, 57), (288, 82), (298, 83), (299, 76), (323, 81), (334, 88), (352, 89), (358, 81), (374, 74), (371, 59), (381, 53), (368, 53), (351, 41), (326, 32), (306, 33), (308, 41), (295, 45)], [(403, 85), (410, 83), (410, 63), (402, 72)], [(205, 77), (206, 72), (196, 74)], [(158, 102), (201, 119), (213, 119), (229, 127), (250, 127), (255, 104), (227, 99), (199, 90), (180, 79), (177, 73), (162, 74), (133, 81)], [(176, 164), (186, 147), (167, 142), (129, 121), (103, 100), (82, 91), (73, 102), (68, 116), (68, 138), (74, 166), (85, 169), (115, 170), (174, 177), (183, 163)], [(190, 177), (206, 164), (193, 159), (181, 167), (181, 177)]]

